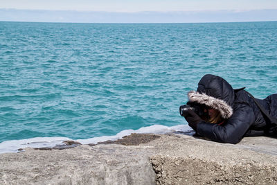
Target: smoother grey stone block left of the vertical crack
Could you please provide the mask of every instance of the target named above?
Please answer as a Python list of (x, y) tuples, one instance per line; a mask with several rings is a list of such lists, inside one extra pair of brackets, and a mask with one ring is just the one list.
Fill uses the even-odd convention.
[(78, 146), (0, 155), (0, 184), (155, 184), (150, 150)]

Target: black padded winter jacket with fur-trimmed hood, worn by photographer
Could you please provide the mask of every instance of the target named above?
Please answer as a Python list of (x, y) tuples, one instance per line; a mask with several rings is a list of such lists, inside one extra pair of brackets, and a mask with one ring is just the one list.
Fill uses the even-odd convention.
[[(244, 90), (234, 90), (220, 76), (205, 75), (197, 91), (188, 93), (190, 102), (197, 102), (220, 111), (226, 121), (223, 125), (200, 122), (197, 133), (213, 141), (238, 143), (243, 136), (266, 135), (270, 121)], [(277, 118), (277, 94), (264, 100), (256, 99), (271, 116)]]

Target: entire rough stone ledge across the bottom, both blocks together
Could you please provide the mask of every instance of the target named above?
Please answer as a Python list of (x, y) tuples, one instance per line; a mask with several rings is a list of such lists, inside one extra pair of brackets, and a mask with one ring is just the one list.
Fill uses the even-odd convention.
[(277, 184), (277, 139), (133, 134), (118, 143), (2, 154), (0, 184)]

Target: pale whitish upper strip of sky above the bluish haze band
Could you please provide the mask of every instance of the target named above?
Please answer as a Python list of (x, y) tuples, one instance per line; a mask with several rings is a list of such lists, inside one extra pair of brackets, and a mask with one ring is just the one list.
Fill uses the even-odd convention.
[(107, 12), (277, 9), (277, 0), (0, 0), (0, 8)]

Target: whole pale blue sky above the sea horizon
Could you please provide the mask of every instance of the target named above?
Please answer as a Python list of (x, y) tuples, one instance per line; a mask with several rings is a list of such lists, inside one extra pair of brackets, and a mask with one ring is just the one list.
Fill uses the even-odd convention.
[[(192, 14), (199, 18), (193, 19)], [(277, 0), (0, 0), (0, 21), (162, 22), (163, 19), (277, 21)]]

